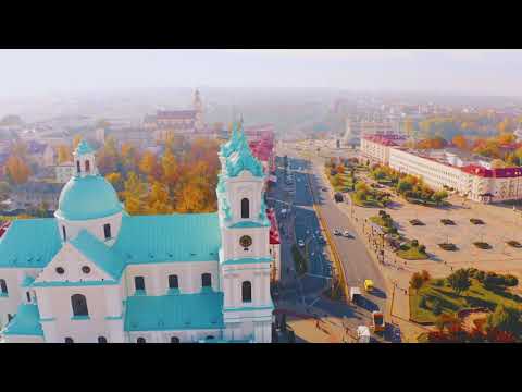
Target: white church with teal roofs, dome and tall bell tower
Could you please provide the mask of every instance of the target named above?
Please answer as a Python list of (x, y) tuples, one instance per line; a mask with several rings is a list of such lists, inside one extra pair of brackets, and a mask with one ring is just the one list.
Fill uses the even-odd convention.
[(129, 216), (82, 142), (54, 218), (0, 237), (4, 342), (270, 343), (265, 174), (236, 127), (220, 160), (217, 212)]

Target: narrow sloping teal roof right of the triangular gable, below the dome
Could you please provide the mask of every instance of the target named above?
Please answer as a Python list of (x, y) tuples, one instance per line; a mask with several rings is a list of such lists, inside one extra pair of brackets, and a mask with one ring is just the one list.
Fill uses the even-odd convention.
[(92, 260), (112, 279), (119, 281), (125, 269), (125, 260), (111, 247), (107, 246), (86, 230), (82, 230), (71, 244), (84, 256)]

